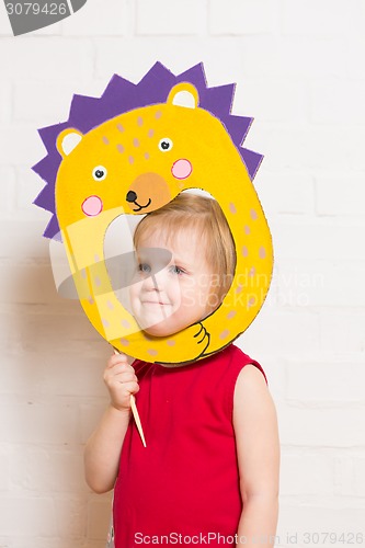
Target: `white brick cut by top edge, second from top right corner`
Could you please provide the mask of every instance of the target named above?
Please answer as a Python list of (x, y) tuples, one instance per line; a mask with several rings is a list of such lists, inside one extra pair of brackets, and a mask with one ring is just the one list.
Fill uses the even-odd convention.
[(213, 35), (271, 33), (274, 2), (271, 0), (209, 1), (209, 32)]

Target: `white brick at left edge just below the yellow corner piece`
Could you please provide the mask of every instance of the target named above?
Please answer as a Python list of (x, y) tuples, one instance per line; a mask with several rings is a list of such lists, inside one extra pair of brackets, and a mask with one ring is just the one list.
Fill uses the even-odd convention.
[(93, 70), (89, 41), (46, 36), (3, 38), (0, 42), (0, 58), (1, 77), (4, 79), (44, 80), (47, 75), (52, 80), (80, 80), (89, 79)]

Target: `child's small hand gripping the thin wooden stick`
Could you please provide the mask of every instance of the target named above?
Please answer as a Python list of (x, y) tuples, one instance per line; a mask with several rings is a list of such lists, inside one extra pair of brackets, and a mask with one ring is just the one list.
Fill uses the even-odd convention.
[(104, 383), (111, 396), (111, 404), (118, 411), (130, 410), (130, 395), (139, 390), (138, 379), (125, 354), (114, 354), (107, 361)]

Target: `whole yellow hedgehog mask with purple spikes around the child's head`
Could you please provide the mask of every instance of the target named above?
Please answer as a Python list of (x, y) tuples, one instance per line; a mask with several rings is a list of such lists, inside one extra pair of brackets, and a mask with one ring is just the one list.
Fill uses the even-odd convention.
[[(45, 236), (61, 240), (93, 327), (135, 358), (189, 363), (218, 352), (248, 328), (269, 290), (272, 241), (251, 182), (262, 157), (241, 147), (252, 118), (230, 114), (233, 91), (207, 88), (202, 65), (175, 77), (158, 62), (138, 84), (114, 76), (100, 99), (75, 95), (68, 122), (39, 130), (48, 153), (33, 168), (46, 181), (35, 203), (53, 213)], [(140, 218), (192, 189), (209, 193), (226, 216), (235, 275), (207, 318), (151, 336), (112, 283), (105, 235), (116, 219)], [(132, 255), (118, 264), (130, 265)]]

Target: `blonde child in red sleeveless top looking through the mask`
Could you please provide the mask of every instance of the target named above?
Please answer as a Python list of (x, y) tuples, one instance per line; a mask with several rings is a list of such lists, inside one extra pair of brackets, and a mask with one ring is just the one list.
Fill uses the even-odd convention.
[[(221, 304), (236, 254), (214, 199), (181, 194), (141, 220), (135, 247), (130, 305), (146, 336), (178, 332)], [(153, 259), (159, 249), (171, 253), (168, 264)], [(233, 344), (187, 365), (132, 363), (109, 359), (111, 403), (84, 455), (90, 488), (114, 488), (115, 547), (272, 546), (280, 450), (261, 366)]]

